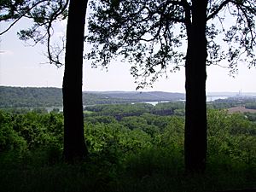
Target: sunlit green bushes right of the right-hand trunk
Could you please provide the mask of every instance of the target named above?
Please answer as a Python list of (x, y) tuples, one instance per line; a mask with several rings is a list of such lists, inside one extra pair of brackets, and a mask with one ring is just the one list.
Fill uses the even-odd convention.
[[(240, 114), (208, 112), (209, 154), (224, 154), (250, 163), (256, 160), (256, 124)], [(256, 162), (256, 161), (255, 161)]]

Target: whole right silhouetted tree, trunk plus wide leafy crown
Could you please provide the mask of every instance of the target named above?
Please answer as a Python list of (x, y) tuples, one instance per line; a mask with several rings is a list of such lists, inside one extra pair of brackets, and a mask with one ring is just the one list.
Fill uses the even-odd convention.
[(108, 67), (122, 56), (132, 63), (138, 88), (185, 67), (185, 166), (204, 171), (207, 65), (228, 61), (231, 73), (239, 61), (256, 66), (254, 0), (104, 0), (90, 6), (86, 40), (93, 45), (87, 54), (93, 65)]

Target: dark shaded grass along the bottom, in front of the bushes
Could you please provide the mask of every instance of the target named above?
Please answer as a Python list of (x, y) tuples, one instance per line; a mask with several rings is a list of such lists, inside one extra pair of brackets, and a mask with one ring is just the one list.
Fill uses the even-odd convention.
[[(34, 155), (37, 155), (35, 157)], [(95, 155), (77, 165), (50, 163), (45, 153), (1, 155), (0, 191), (183, 192), (256, 188), (256, 167), (224, 156), (208, 159), (204, 174), (184, 174), (183, 157), (151, 148), (114, 163)], [(39, 161), (38, 161), (39, 160)]]

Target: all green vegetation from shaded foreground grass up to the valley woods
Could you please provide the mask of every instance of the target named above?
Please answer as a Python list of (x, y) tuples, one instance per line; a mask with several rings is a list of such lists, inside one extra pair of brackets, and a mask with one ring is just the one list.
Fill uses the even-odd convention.
[[(204, 174), (184, 174), (181, 103), (87, 108), (88, 159), (62, 161), (62, 113), (0, 111), (1, 191), (218, 191), (256, 188), (255, 114), (208, 109)], [(39, 113), (40, 112), (40, 113)], [(116, 114), (125, 113), (122, 117)], [(137, 115), (128, 115), (139, 113)]]

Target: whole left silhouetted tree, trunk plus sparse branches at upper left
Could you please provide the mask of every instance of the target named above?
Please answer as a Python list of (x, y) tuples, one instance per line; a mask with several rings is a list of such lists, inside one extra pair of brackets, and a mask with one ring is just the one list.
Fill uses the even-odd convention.
[[(55, 20), (67, 18), (66, 47), (53, 46), (50, 39), (53, 35)], [(87, 0), (4, 0), (0, 3), (3, 14), (0, 21), (11, 21), (10, 26), (0, 33), (8, 32), (22, 18), (33, 20), (33, 26), (19, 32), (21, 40), (35, 43), (47, 43), (49, 62), (61, 67), (61, 55), (66, 49), (65, 73), (63, 78), (63, 111), (64, 111), (64, 158), (83, 159), (88, 153), (84, 142), (84, 113), (82, 102), (82, 68), (84, 51), (84, 24)]]

